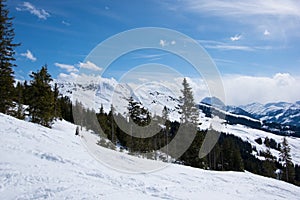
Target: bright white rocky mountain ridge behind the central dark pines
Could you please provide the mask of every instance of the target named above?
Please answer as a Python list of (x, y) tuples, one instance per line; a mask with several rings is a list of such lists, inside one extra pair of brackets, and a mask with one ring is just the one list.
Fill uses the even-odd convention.
[(153, 82), (142, 87), (131, 87), (126, 83), (118, 83), (115, 79), (77, 76), (56, 80), (60, 92), (69, 96), (73, 102), (76, 99), (87, 108), (99, 110), (101, 105), (106, 112), (110, 110), (111, 104), (117, 113), (127, 113), (129, 97), (141, 102), (152, 114), (160, 115), (163, 107), (170, 111), (172, 120), (179, 120), (178, 97), (163, 84)]

